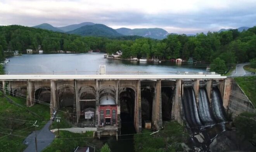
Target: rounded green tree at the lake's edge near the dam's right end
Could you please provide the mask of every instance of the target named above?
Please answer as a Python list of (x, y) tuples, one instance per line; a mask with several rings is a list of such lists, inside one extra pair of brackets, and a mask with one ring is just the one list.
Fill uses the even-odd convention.
[(217, 72), (220, 74), (226, 73), (227, 71), (225, 61), (220, 59), (219, 57), (213, 60), (213, 62), (210, 64), (210, 67), (212, 72)]

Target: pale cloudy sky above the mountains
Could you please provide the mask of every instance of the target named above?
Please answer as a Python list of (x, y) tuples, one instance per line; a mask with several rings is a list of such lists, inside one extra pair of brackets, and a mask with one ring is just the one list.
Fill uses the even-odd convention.
[(195, 34), (256, 25), (256, 0), (0, 0), (0, 25), (94, 22)]

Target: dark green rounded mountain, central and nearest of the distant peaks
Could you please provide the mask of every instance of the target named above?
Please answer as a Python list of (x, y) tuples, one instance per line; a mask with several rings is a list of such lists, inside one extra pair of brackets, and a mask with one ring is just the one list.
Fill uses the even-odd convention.
[(82, 26), (73, 31), (67, 32), (69, 34), (78, 34), (81, 36), (104, 36), (104, 37), (117, 37), (123, 36), (116, 30), (104, 25), (104, 24), (93, 24)]

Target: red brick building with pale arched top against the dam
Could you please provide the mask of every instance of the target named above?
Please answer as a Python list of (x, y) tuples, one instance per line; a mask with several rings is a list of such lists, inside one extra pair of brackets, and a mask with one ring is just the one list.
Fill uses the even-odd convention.
[(117, 126), (118, 107), (111, 96), (104, 96), (99, 101), (99, 124), (102, 126)]

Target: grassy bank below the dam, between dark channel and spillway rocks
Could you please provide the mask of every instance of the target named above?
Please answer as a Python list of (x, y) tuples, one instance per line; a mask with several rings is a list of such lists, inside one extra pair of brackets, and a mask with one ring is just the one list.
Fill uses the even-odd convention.
[(184, 127), (176, 121), (164, 122), (164, 129), (153, 135), (151, 130), (143, 130), (134, 135), (135, 152), (172, 152), (182, 151), (181, 143), (189, 136)]

